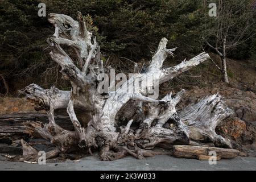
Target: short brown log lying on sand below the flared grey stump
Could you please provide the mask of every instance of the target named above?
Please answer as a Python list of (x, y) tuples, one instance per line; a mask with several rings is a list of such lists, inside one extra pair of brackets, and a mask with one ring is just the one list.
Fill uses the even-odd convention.
[(216, 152), (217, 159), (233, 159), (240, 151), (230, 148), (175, 145), (173, 156), (176, 158), (203, 159), (204, 156), (212, 156)]

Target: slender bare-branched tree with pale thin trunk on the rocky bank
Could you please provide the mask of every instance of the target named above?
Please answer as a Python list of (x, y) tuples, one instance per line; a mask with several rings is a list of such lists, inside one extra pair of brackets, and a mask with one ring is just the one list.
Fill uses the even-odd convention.
[[(251, 28), (255, 24), (254, 6), (248, 0), (218, 0), (217, 16), (209, 23), (208, 37), (204, 38), (207, 45), (221, 57), (222, 80), (229, 82), (226, 57), (231, 49), (241, 46), (251, 39), (255, 33)], [(211, 18), (211, 17), (207, 17)]]

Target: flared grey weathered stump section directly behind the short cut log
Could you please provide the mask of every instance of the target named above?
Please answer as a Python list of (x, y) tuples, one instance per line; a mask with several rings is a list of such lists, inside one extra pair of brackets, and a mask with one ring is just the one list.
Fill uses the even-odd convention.
[(210, 140), (217, 147), (233, 148), (229, 139), (217, 135), (215, 129), (222, 120), (233, 115), (233, 110), (225, 106), (223, 98), (214, 94), (189, 105), (178, 112), (182, 126), (189, 138), (197, 141)]

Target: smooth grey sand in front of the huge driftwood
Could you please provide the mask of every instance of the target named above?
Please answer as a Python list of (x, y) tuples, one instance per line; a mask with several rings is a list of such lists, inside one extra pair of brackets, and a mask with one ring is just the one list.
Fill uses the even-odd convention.
[(237, 157), (223, 159), (217, 164), (196, 159), (179, 159), (167, 155), (157, 155), (146, 160), (137, 160), (127, 156), (113, 162), (102, 162), (97, 156), (87, 156), (79, 162), (47, 163), (45, 165), (22, 162), (8, 162), (0, 157), (0, 170), (256, 170), (256, 158)]

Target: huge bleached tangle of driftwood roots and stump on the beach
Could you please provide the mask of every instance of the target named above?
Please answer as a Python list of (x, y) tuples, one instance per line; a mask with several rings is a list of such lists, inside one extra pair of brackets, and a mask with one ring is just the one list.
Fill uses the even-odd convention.
[[(41, 126), (27, 122), (26, 129), (33, 131), (34, 137), (54, 144), (56, 148), (48, 152), (48, 158), (79, 148), (85, 148), (91, 154), (100, 150), (102, 160), (115, 160), (126, 155), (143, 159), (160, 154), (154, 151), (155, 147), (172, 148), (175, 144), (196, 143), (200, 146), (201, 143), (212, 142), (216, 147), (232, 148), (230, 140), (215, 133), (218, 123), (233, 114), (220, 95), (205, 97), (180, 111), (176, 111), (175, 107), (184, 90), (175, 96), (170, 93), (160, 99), (150, 97), (153, 87), (158, 88), (163, 82), (208, 60), (208, 53), (202, 52), (174, 67), (162, 68), (163, 61), (168, 55), (173, 56), (176, 49), (167, 49), (168, 40), (162, 38), (148, 67), (139, 72), (135, 65), (129, 79), (113, 89), (113, 82), (110, 82), (110, 86), (105, 85), (104, 81), (102, 84), (102, 80), (106, 79), (104, 73), (109, 70), (104, 67), (100, 46), (96, 37), (87, 30), (81, 13), (78, 13), (77, 20), (62, 14), (49, 14), (48, 20), (55, 26), (53, 37), (48, 39), (51, 47), (49, 54), (60, 65), (63, 78), (71, 82), (72, 89), (64, 91), (55, 86), (43, 89), (31, 84), (20, 90), (38, 104), (37, 110), (47, 112), (49, 123)], [(71, 47), (76, 59), (72, 60), (62, 46)], [(130, 92), (129, 89), (137, 80), (139, 89), (135, 87)], [(99, 88), (103, 87), (107, 92), (99, 92)], [(84, 111), (87, 122), (81, 122), (77, 117), (76, 108)], [(67, 109), (75, 130), (66, 130), (57, 125), (54, 118), (56, 109)], [(22, 146), (25, 159), (35, 161), (37, 151), (24, 140)], [(176, 156), (182, 156), (178, 154), (177, 147), (174, 149)], [(187, 150), (194, 151), (196, 155), (200, 151), (195, 148)], [(183, 154), (187, 157), (190, 153)], [(205, 151), (201, 154), (208, 155)]]

